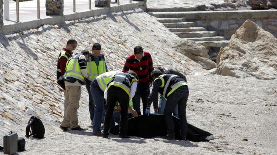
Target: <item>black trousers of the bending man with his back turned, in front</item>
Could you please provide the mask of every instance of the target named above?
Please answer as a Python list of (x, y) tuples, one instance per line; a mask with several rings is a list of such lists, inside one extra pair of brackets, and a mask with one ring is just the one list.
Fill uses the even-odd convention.
[(107, 111), (104, 120), (104, 134), (108, 135), (110, 129), (110, 123), (113, 116), (113, 111), (116, 106), (116, 101), (120, 103), (121, 106), (121, 116), (120, 116), (120, 129), (119, 135), (126, 136), (128, 130), (128, 106), (129, 106), (129, 96), (121, 88), (116, 86), (110, 86), (107, 91)]

